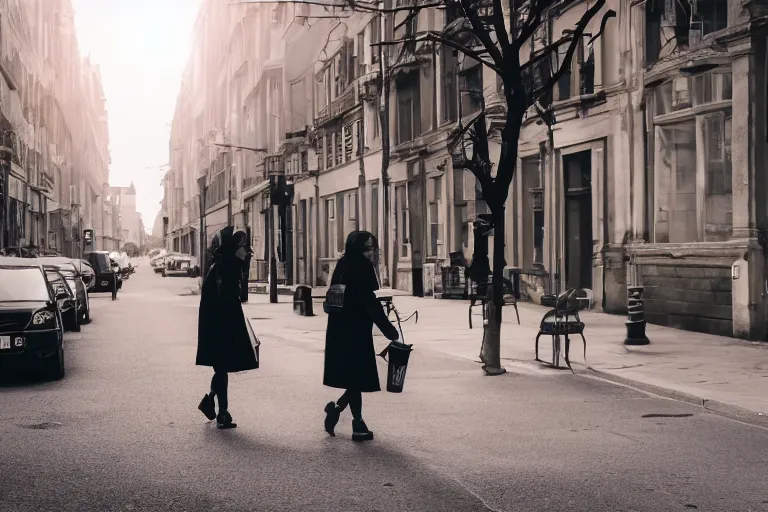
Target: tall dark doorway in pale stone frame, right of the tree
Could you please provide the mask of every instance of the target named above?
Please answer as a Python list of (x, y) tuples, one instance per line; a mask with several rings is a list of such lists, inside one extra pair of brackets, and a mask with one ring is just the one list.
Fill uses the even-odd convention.
[(563, 157), (565, 279), (567, 288), (592, 289), (592, 151)]

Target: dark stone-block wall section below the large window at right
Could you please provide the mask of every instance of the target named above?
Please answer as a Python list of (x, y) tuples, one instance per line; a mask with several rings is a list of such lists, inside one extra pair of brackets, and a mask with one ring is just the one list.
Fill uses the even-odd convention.
[(648, 322), (732, 336), (730, 268), (645, 264), (637, 270)]

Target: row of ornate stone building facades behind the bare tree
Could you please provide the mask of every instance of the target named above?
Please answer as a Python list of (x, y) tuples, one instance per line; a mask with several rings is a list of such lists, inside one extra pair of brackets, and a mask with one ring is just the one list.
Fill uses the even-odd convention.
[[(521, 61), (587, 8), (556, 4)], [(532, 111), (524, 123), (505, 259), (531, 300), (581, 288), (597, 310), (624, 313), (627, 286), (641, 285), (651, 322), (764, 340), (765, 2), (608, 0), (608, 8), (617, 16), (600, 38), (578, 44), (570, 73), (545, 98), (549, 122)], [(474, 177), (454, 167), (450, 142), (484, 106), (498, 161), (502, 87), (448, 47), (377, 43), (442, 30), (451, 9), (405, 20), (261, 4), (230, 8), (229, 28), (211, 30), (220, 10), (206, 2), (208, 21), (198, 26), (200, 48), (215, 58), (198, 48), (189, 72), (216, 77), (216, 89), (209, 78), (205, 94), (180, 95), (177, 108), (176, 143), (204, 149), (197, 182), (185, 181), (181, 197), (203, 184), (204, 224), (251, 230), (252, 279), (266, 279), (274, 256), (279, 282), (327, 284), (346, 235), (365, 229), (380, 240), (385, 284), (439, 292), (441, 268), (452, 255), (471, 258), (472, 221), (487, 212)], [(551, 61), (563, 57), (545, 59), (531, 80), (551, 76)], [(195, 108), (208, 124), (197, 128)], [(211, 149), (216, 140), (224, 145)], [(290, 185), (288, 206), (270, 206), (270, 177)]]

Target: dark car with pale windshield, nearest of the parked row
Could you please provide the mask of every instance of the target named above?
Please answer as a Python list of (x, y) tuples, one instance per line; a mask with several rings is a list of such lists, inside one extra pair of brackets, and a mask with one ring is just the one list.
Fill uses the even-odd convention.
[(68, 296), (53, 290), (34, 260), (0, 257), (0, 363), (41, 362), (48, 377), (64, 377), (64, 323), (57, 301)]

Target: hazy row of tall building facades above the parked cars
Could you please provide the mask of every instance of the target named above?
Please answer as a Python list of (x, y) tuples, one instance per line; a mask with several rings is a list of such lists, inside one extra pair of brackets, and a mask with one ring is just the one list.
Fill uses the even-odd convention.
[(80, 56), (70, 0), (0, 1), (0, 249), (104, 248), (109, 134), (99, 69)]

